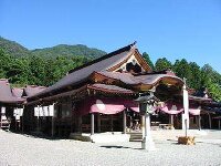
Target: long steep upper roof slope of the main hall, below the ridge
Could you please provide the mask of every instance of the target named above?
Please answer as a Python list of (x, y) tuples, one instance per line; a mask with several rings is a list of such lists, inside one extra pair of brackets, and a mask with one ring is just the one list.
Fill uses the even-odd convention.
[(54, 85), (48, 87), (45, 91), (43, 91), (39, 95), (44, 95), (44, 94), (61, 90), (63, 87), (66, 87), (69, 85), (74, 85), (74, 84), (84, 82), (94, 71), (96, 72), (105, 71), (118, 64), (119, 62), (126, 60), (128, 55), (130, 55), (134, 51), (135, 51), (135, 46), (133, 43), (117, 51), (108, 53), (97, 60), (94, 60), (85, 65), (74, 69), (73, 71), (70, 72), (70, 74), (61, 79)]

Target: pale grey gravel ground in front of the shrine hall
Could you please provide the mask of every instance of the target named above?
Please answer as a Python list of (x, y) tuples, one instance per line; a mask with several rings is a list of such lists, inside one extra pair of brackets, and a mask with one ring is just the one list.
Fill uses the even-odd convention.
[[(207, 134), (204, 134), (207, 133)], [(178, 145), (176, 132), (155, 131), (157, 149), (140, 149), (140, 142), (93, 144), (51, 141), (0, 129), (0, 165), (148, 165), (220, 166), (221, 131), (197, 133), (193, 146)]]

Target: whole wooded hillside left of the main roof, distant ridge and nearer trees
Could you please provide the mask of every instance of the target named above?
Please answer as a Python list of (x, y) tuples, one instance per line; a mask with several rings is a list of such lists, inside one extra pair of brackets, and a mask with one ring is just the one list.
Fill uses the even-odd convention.
[(9, 79), (14, 86), (49, 86), (70, 70), (104, 54), (104, 51), (81, 44), (61, 44), (31, 51), (17, 42), (0, 38), (0, 79)]

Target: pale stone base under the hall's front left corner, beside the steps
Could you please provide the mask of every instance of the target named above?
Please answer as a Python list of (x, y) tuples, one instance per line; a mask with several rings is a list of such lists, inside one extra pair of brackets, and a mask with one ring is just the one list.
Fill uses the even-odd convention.
[(129, 142), (129, 134), (122, 134), (122, 132), (106, 132), (94, 135), (86, 133), (71, 133), (70, 138), (93, 142), (93, 143), (114, 143), (114, 142)]

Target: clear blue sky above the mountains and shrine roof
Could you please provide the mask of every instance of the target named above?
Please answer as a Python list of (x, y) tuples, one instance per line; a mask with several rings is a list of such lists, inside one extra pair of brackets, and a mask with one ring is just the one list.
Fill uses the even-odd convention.
[(221, 73), (220, 0), (0, 0), (0, 35), (28, 49), (106, 52), (137, 41), (154, 62), (185, 58)]

